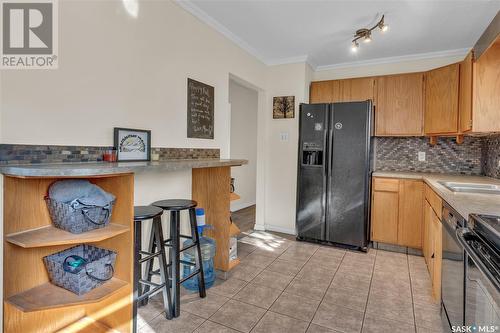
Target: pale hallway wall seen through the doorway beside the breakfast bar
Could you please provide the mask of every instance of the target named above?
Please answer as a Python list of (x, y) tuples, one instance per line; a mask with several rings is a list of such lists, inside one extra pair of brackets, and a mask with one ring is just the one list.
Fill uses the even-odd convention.
[(231, 170), (239, 200), (231, 202), (231, 211), (255, 205), (257, 186), (257, 112), (258, 92), (229, 80), (231, 104), (231, 158), (248, 160)]

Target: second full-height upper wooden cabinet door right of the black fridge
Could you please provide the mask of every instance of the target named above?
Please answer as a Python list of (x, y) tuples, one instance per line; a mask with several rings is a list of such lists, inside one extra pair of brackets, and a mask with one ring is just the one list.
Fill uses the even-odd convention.
[(458, 75), (458, 64), (434, 69), (425, 74), (425, 134), (457, 133)]

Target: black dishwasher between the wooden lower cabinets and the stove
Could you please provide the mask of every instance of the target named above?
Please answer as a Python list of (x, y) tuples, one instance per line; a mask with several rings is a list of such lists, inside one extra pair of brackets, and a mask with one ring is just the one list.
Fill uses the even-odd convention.
[(444, 326), (462, 326), (464, 323), (464, 250), (457, 238), (457, 230), (466, 220), (446, 202), (443, 204), (443, 265), (441, 300), (445, 316)]

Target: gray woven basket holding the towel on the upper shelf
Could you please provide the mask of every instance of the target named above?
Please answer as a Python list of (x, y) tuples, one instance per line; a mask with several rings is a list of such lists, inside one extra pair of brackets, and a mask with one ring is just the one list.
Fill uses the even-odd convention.
[(113, 206), (112, 201), (107, 207), (84, 207), (75, 209), (65, 202), (59, 202), (49, 197), (45, 198), (52, 223), (73, 234), (81, 234), (92, 229), (103, 228), (109, 224)]

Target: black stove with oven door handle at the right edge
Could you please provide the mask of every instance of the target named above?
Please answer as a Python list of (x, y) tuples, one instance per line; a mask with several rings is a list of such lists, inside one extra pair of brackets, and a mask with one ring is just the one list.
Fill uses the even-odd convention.
[(500, 219), (471, 214), (457, 231), (465, 250), (465, 326), (476, 332), (500, 329)]

